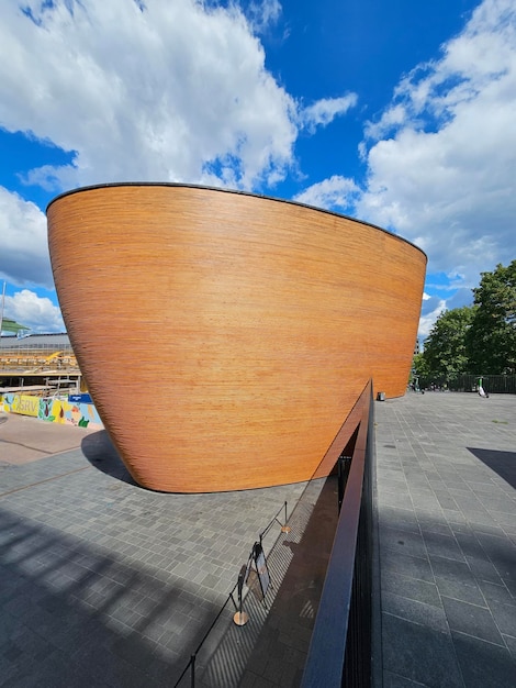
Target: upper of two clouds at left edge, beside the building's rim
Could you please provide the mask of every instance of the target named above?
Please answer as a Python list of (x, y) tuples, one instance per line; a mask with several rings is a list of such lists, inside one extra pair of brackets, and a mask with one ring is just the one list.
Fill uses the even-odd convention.
[(51, 289), (53, 277), (45, 214), (0, 187), (0, 280)]

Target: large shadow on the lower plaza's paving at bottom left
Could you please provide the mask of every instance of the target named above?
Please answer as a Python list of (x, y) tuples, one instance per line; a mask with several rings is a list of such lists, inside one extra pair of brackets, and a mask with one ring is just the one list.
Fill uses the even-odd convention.
[(170, 686), (214, 610), (137, 567), (0, 510), (0, 685)]

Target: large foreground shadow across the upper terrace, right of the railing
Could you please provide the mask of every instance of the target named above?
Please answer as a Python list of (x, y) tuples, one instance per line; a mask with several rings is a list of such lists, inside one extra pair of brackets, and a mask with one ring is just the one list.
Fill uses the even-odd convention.
[(482, 523), (451, 528), (423, 511), (380, 510), (384, 680), (512, 688), (514, 545)]

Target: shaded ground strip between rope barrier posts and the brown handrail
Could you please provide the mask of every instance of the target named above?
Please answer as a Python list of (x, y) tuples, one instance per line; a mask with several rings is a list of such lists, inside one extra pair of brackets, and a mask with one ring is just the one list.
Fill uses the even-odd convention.
[(199, 656), (201, 686), (299, 686), (337, 520), (336, 476), (310, 482), (289, 518), (291, 532), (281, 533), (268, 554), (266, 606), (249, 582), (243, 606), (249, 621), (240, 628), (226, 617)]

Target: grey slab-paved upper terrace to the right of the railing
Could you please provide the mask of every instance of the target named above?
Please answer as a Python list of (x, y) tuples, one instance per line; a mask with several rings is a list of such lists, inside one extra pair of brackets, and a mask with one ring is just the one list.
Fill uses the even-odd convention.
[(375, 403), (383, 685), (516, 686), (516, 397)]

